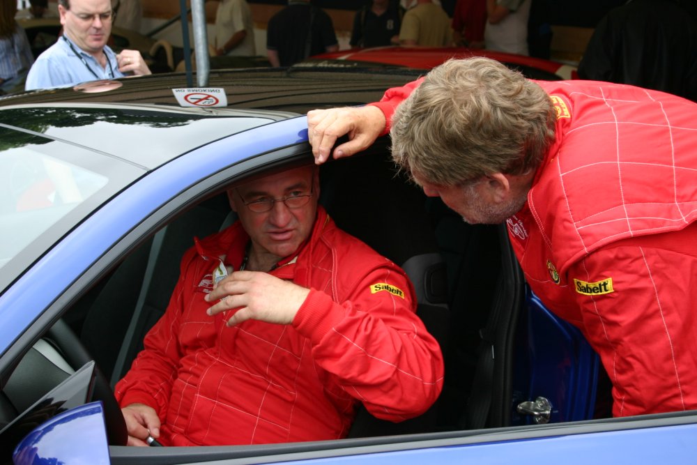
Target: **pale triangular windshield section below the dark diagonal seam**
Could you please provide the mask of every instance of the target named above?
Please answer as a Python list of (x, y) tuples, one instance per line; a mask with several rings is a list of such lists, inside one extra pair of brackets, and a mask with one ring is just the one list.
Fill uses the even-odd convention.
[(0, 123), (0, 290), (144, 172)]

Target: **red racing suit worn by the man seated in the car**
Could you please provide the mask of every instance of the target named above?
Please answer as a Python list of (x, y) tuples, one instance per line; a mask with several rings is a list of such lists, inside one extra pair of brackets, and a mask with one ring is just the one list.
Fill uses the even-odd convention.
[(248, 241), (236, 223), (185, 253), (167, 311), (116, 385), (121, 406), (155, 408), (164, 445), (339, 439), (358, 401), (392, 421), (433, 404), (443, 359), (411, 282), (321, 207), (296, 257), (270, 272), (311, 289), (292, 325), (209, 317), (217, 257), (240, 268)]

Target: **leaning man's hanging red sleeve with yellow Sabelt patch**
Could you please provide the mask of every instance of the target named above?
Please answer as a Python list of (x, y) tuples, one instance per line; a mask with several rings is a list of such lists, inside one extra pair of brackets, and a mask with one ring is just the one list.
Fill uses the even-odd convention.
[(613, 383), (613, 416), (697, 408), (697, 255), (624, 241), (567, 276)]

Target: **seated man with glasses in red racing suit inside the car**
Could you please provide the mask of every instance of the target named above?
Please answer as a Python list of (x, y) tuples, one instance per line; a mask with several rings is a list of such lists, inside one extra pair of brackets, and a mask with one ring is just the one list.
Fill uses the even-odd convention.
[(164, 316), (116, 384), (130, 445), (339, 439), (358, 402), (392, 421), (443, 384), (399, 267), (339, 230), (301, 167), (228, 191), (239, 221), (188, 250)]

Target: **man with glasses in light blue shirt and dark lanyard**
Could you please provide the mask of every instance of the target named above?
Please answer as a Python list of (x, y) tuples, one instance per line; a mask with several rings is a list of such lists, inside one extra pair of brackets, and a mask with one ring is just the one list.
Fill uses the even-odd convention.
[(49, 89), (96, 79), (149, 75), (137, 50), (120, 54), (107, 45), (114, 12), (109, 0), (59, 0), (63, 36), (29, 70), (24, 89)]

